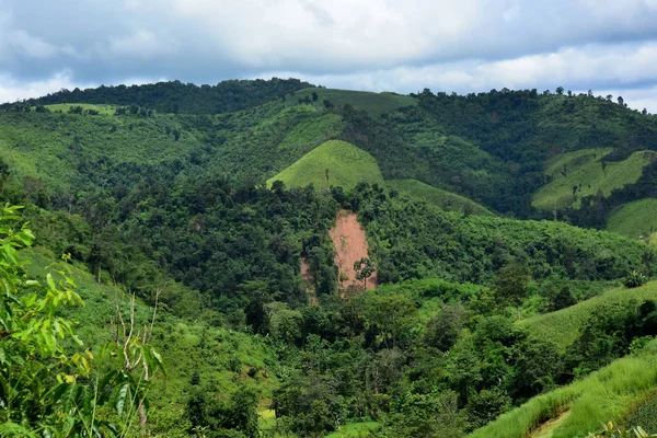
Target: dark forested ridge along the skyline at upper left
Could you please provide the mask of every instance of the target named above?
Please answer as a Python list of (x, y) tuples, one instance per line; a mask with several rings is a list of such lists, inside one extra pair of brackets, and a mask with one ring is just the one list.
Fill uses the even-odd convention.
[[(138, 105), (160, 113), (218, 114), (257, 106), (286, 94), (313, 87), (298, 79), (265, 81), (229, 80), (216, 85), (195, 85), (181, 81), (159, 82), (145, 85), (117, 85), (87, 90), (64, 89), (39, 99), (30, 99), (28, 105), (61, 103), (91, 103)], [(10, 104), (0, 105), (7, 108)]]

